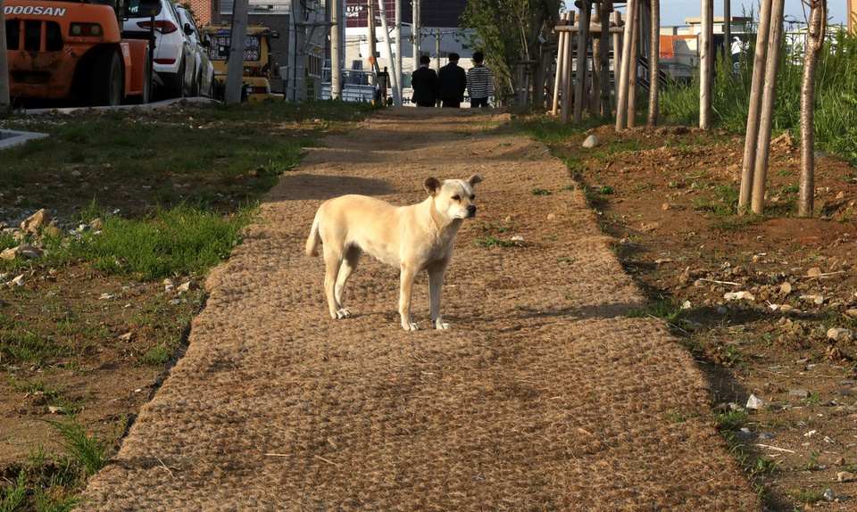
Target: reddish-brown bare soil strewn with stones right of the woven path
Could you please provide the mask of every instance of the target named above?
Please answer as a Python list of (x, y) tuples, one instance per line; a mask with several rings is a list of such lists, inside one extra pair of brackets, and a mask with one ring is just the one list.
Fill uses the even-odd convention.
[[(646, 313), (668, 317), (706, 369), (716, 411), (743, 409), (750, 394), (767, 402), (724, 427), (766, 506), (857, 510), (857, 482), (837, 481), (857, 469), (857, 343), (827, 335), (857, 333), (857, 169), (822, 155), (816, 217), (796, 219), (799, 150), (780, 138), (769, 216), (740, 217), (743, 138), (591, 133), (594, 149), (581, 147), (587, 134), (552, 149), (587, 186), (624, 268), (655, 304)], [(743, 291), (753, 300), (724, 298)], [(822, 499), (828, 489), (836, 502)]]

